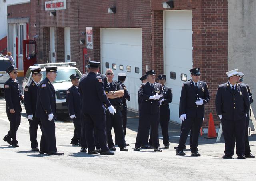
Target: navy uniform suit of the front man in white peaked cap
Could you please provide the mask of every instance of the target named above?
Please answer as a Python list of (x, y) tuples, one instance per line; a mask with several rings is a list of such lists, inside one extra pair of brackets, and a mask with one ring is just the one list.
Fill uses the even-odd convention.
[(248, 90), (243, 84), (236, 84), (233, 91), (227, 82), (218, 86), (215, 106), (217, 115), (222, 115), (221, 124), (225, 140), (225, 155), (233, 156), (236, 142), (236, 154), (244, 155), (244, 137), (246, 116), (249, 113), (250, 100)]

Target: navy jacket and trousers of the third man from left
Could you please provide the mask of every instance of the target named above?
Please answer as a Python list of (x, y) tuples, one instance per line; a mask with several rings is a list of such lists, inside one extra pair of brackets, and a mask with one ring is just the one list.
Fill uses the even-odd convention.
[[(56, 103), (55, 90), (46, 77), (38, 86), (37, 102), (36, 102), (36, 117), (40, 119), (42, 124), (42, 136), (40, 141), (40, 151), (56, 152), (56, 137), (55, 137), (55, 123), (56, 119)], [(48, 120), (48, 115), (53, 114), (52, 121)]]

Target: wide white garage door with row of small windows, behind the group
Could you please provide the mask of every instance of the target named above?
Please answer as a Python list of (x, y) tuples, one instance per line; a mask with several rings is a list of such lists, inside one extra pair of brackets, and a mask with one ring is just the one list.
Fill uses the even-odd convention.
[(131, 95), (127, 107), (138, 111), (139, 78), (142, 76), (141, 28), (102, 28), (101, 50), (102, 72), (112, 68), (114, 80), (118, 80), (119, 72), (127, 74), (124, 84)]

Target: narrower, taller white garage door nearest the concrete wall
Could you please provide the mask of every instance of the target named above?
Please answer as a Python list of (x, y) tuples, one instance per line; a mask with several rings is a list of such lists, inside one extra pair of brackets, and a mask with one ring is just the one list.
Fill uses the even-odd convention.
[(192, 11), (164, 11), (164, 73), (166, 85), (173, 91), (170, 119), (178, 123), (180, 92), (184, 83), (181, 78), (187, 76), (187, 81), (191, 78), (192, 50)]

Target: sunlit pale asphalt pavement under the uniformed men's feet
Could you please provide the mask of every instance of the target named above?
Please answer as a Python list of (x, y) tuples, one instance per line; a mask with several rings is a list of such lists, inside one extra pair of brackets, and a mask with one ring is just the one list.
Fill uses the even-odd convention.
[[(56, 143), (63, 156), (39, 155), (30, 151), (29, 124), (22, 105), (21, 124), (17, 131), (20, 147), (11, 147), (2, 140), (9, 130), (5, 113), (5, 100), (0, 95), (0, 175), (1, 180), (20, 181), (73, 181), (73, 180), (256, 180), (256, 159), (222, 159), (224, 140), (205, 139), (200, 136), (198, 149), (201, 157), (176, 155), (174, 146), (178, 145), (180, 126), (169, 124), (170, 148), (162, 152), (153, 149), (133, 151), (137, 129), (138, 113), (128, 111), (126, 142), (128, 152), (117, 147), (115, 155), (88, 155), (80, 153), (80, 147), (70, 145), (74, 125), (68, 115), (59, 115), (56, 124)], [(62, 116), (62, 117), (61, 117)], [(112, 132), (114, 137), (114, 131)], [(2, 137), (1, 137), (2, 136)], [(38, 129), (38, 143), (41, 131)], [(160, 147), (162, 132), (159, 127)], [(249, 137), (252, 153), (256, 154), (256, 135)], [(187, 148), (188, 141), (186, 143)]]

